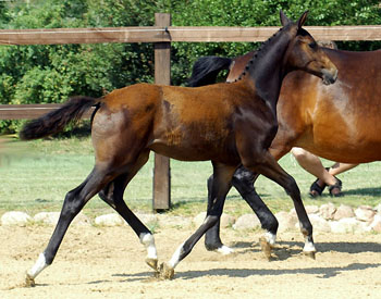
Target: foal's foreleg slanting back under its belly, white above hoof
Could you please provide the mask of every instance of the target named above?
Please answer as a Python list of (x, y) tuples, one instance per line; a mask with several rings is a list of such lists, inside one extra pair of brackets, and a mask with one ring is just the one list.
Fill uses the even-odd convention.
[(160, 274), (163, 278), (172, 278), (174, 267), (187, 254), (190, 253), (193, 247), (202, 237), (202, 235), (213, 226), (222, 214), (225, 197), (231, 188), (231, 179), (234, 174), (235, 166), (213, 163), (213, 184), (211, 188), (211, 204), (208, 207), (207, 216), (200, 227), (173, 253), (172, 259), (168, 263), (161, 264)]

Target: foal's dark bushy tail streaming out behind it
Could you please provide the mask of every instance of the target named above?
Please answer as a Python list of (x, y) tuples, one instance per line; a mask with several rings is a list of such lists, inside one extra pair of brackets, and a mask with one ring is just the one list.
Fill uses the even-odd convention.
[(87, 110), (99, 103), (100, 100), (82, 96), (71, 98), (61, 108), (27, 123), (20, 132), (20, 138), (32, 140), (62, 132), (69, 123), (78, 121)]

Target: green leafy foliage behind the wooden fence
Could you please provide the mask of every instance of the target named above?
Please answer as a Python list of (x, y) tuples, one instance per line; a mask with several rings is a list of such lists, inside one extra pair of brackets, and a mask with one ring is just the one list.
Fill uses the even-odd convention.
[[(279, 10), (297, 18), (310, 10), (308, 25), (381, 24), (373, 0), (30, 0), (0, 1), (0, 28), (151, 26), (155, 12), (172, 13), (175, 26), (278, 26)], [(183, 84), (202, 55), (241, 55), (249, 42), (175, 42), (172, 82)], [(341, 42), (341, 48), (372, 50), (379, 42)], [(138, 82), (152, 82), (151, 43), (1, 46), (0, 103), (62, 102), (73, 95), (99, 97)], [(0, 122), (0, 130), (16, 130)]]

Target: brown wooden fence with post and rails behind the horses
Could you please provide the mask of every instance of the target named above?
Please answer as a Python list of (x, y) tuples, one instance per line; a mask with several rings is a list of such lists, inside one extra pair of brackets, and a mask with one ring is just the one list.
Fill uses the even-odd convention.
[[(170, 14), (155, 14), (149, 27), (58, 28), (0, 30), (0, 45), (62, 45), (99, 42), (155, 42), (155, 83), (170, 85), (171, 42), (263, 41), (279, 27), (176, 27)], [(381, 40), (381, 25), (306, 26), (317, 40)], [(0, 120), (38, 117), (60, 104), (0, 105)], [(90, 113), (85, 116), (89, 116)], [(153, 209), (170, 207), (170, 160), (155, 155)]]

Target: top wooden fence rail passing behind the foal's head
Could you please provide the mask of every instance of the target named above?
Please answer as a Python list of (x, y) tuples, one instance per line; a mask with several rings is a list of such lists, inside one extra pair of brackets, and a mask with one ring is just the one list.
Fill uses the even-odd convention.
[[(381, 25), (306, 26), (318, 40), (381, 40)], [(279, 27), (109, 27), (0, 30), (0, 45), (263, 41)]]

